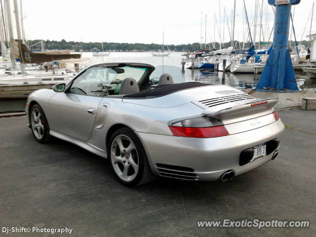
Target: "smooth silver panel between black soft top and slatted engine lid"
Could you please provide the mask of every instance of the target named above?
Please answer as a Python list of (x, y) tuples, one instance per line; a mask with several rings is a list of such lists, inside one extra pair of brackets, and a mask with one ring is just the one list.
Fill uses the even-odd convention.
[(156, 98), (123, 98), (122, 101), (149, 107), (169, 108), (176, 107), (189, 102), (230, 96), (237, 93), (244, 92), (227, 85), (207, 85), (173, 92), (171, 94)]

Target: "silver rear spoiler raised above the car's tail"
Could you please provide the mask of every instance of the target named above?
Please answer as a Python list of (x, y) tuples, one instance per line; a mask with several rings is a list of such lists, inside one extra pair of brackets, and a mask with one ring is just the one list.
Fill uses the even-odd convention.
[(276, 105), (277, 101), (278, 98), (254, 99), (244, 102), (238, 101), (238, 103), (227, 103), (206, 109), (202, 112), (202, 114), (212, 116), (214, 118), (243, 117), (265, 111), (269, 112)]

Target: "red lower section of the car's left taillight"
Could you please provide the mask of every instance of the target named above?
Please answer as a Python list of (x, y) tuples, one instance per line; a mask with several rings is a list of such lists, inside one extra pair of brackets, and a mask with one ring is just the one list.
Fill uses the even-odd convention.
[(213, 127), (175, 127), (169, 126), (172, 134), (179, 137), (221, 137), (229, 135), (224, 125)]

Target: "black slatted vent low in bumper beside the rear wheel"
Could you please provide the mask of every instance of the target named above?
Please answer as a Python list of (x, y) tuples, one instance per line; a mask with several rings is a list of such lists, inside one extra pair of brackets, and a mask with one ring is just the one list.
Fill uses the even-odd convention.
[(184, 179), (184, 180), (198, 180), (198, 175), (192, 168), (169, 165), (169, 164), (156, 164), (156, 168), (160, 176)]

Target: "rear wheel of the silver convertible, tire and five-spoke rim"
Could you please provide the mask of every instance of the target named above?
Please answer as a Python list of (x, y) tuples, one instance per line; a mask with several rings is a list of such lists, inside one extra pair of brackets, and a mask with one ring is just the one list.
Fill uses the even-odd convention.
[(112, 134), (108, 147), (108, 160), (118, 181), (125, 186), (146, 184), (156, 178), (141, 141), (127, 127), (119, 128)]

